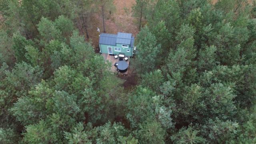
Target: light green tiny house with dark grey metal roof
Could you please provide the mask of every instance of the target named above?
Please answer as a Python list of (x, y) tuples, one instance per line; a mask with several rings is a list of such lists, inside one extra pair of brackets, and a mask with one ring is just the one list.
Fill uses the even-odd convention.
[(134, 36), (130, 33), (100, 34), (100, 53), (133, 56)]

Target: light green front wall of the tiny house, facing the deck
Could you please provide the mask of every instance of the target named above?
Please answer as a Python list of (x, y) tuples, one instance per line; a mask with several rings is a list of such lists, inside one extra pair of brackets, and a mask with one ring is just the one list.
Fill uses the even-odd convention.
[[(108, 54), (108, 47), (112, 47), (112, 54), (124, 53), (126, 56), (132, 56), (133, 49), (130, 48), (130, 47), (129, 48), (122, 48), (122, 44), (116, 44), (116, 46), (100, 44), (100, 51), (101, 51), (101, 53)], [(121, 52), (115, 51), (114, 48), (120, 48)], [(127, 52), (127, 49), (129, 49), (130, 52)]]

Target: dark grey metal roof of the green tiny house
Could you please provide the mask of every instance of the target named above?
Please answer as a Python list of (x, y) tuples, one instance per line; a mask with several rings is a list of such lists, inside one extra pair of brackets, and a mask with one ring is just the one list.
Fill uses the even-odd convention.
[(100, 34), (99, 44), (107, 44), (116, 46), (116, 44), (129, 44), (130, 47), (134, 46), (134, 37), (131, 33), (118, 32), (117, 34)]

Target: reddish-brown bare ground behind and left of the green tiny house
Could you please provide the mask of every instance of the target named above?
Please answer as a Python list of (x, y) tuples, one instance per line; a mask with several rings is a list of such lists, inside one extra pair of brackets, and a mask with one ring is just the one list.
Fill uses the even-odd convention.
[[(114, 0), (116, 12), (106, 18), (106, 33), (127, 32), (132, 33), (134, 36), (138, 34), (139, 29), (136, 26), (136, 19), (132, 17), (133, 4), (135, 4), (135, 0)], [(100, 33), (97, 32), (97, 27), (100, 28), (100, 32), (103, 32), (102, 16), (99, 13), (95, 13), (90, 23), (91, 25), (88, 28), (89, 38), (96, 48), (95, 51), (99, 52), (98, 41)]]

